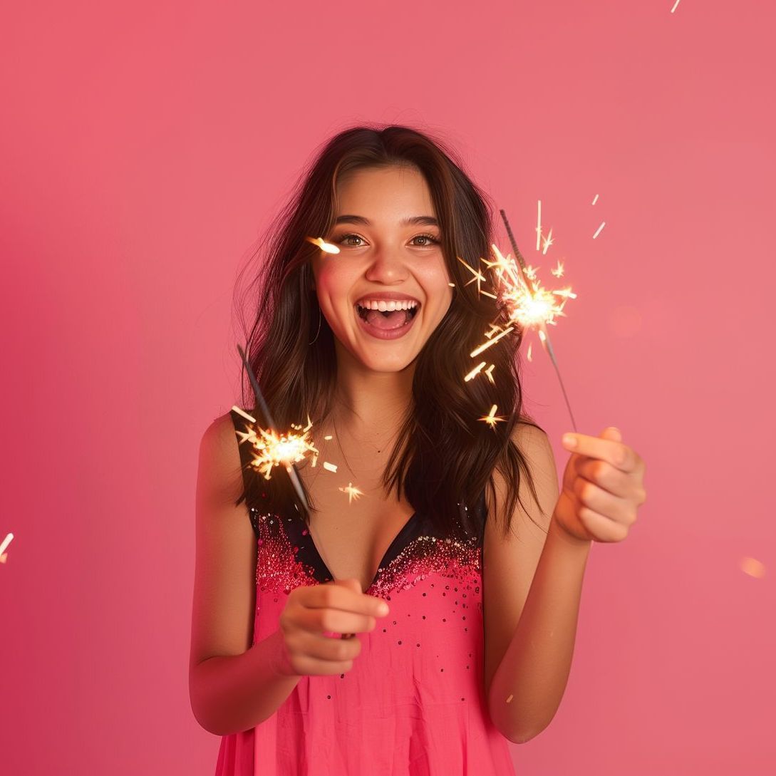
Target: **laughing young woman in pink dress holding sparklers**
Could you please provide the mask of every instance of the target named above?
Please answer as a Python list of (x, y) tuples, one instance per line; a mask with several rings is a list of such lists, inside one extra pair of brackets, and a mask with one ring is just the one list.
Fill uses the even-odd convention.
[(282, 213), (249, 360), (319, 456), (308, 512), (251, 467), (251, 400), (203, 435), (189, 675), (219, 776), (501, 776), (553, 719), (591, 542), (628, 534), (644, 462), (616, 428), (570, 435), (559, 487), (520, 331), (464, 380), (504, 321), (464, 266), (491, 241), (452, 151), (404, 126), (339, 133)]

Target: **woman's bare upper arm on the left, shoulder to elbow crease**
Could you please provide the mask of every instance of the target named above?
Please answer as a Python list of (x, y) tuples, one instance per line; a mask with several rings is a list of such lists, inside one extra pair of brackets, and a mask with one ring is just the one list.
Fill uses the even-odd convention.
[(190, 672), (251, 646), (257, 547), (248, 507), (236, 503), (242, 491), (238, 439), (226, 413), (199, 444)]

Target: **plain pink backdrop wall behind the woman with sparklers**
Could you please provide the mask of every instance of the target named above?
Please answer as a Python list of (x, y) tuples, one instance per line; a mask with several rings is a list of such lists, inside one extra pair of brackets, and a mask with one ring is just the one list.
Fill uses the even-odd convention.
[(0, 771), (213, 772), (193, 506), (199, 438), (237, 400), (232, 289), (314, 148), (375, 120), (459, 148), (546, 285), (566, 262), (579, 430), (618, 425), (647, 462), (518, 774), (773, 773), (773, 4), (107, 5), (0, 19)]

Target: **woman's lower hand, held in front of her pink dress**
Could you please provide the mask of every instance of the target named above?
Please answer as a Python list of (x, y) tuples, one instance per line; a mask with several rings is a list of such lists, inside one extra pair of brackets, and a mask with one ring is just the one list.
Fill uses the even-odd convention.
[[(355, 579), (294, 588), (280, 614), (281, 672), (289, 676), (345, 674), (361, 652), (361, 641), (347, 635), (374, 630), (376, 618), (385, 617), (388, 611), (382, 598), (362, 593)], [(343, 636), (332, 638), (327, 632)]]

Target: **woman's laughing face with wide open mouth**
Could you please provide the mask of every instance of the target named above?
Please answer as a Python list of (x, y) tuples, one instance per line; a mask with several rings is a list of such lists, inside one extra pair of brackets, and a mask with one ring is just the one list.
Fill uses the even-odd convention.
[(345, 348), (375, 372), (404, 369), (452, 300), (428, 185), (416, 168), (362, 168), (337, 191), (325, 239), (340, 252), (320, 251), (313, 273), (338, 358)]

